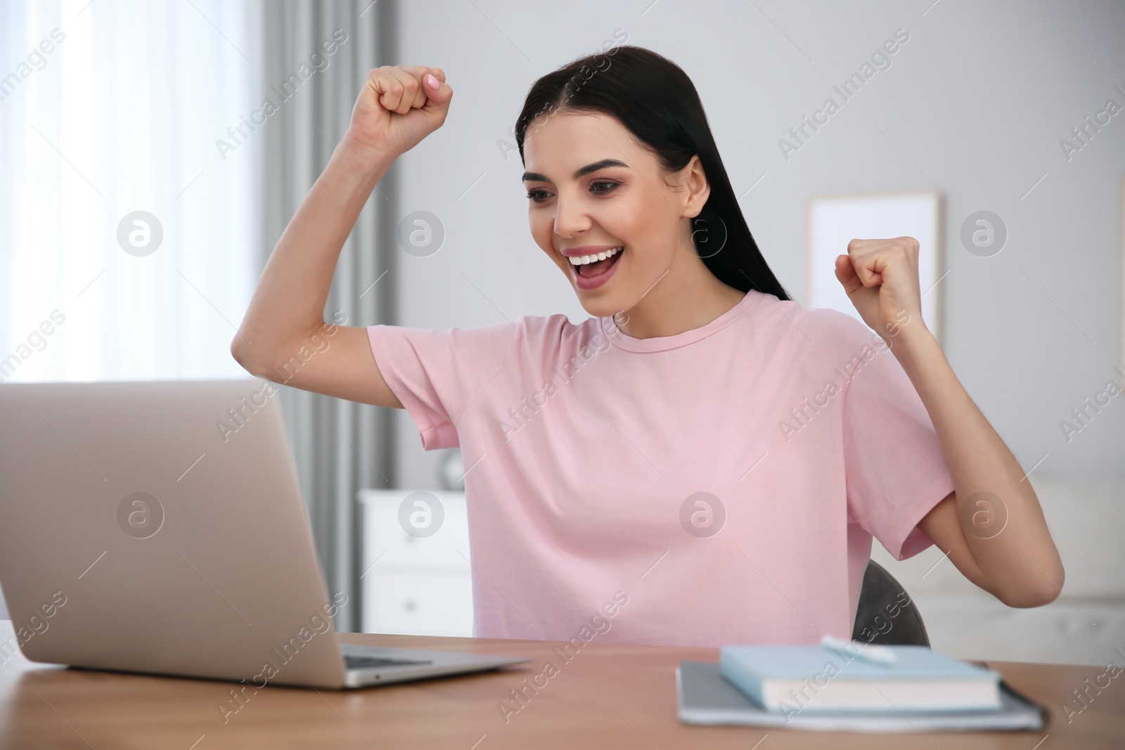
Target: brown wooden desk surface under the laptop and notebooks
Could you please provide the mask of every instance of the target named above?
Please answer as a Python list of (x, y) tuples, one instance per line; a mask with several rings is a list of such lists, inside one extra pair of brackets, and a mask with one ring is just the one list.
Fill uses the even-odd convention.
[[(1102, 667), (994, 661), (1017, 690), (1046, 706), (1043, 732), (857, 734), (692, 726), (676, 717), (681, 659), (718, 661), (716, 649), (585, 645), (562, 662), (544, 641), (349, 634), (345, 642), (528, 656), (533, 662), (429, 681), (335, 692), (267, 686), (227, 716), (230, 683), (64, 669), (20, 654), (0, 666), (0, 748), (781, 748), (945, 750), (946, 748), (1125, 747), (1125, 674), (1101, 677), (1079, 714), (1072, 690)], [(550, 660), (523, 705), (523, 688)], [(1106, 684), (1108, 683), (1108, 686)], [(503, 705), (510, 711), (505, 716)], [(516, 711), (518, 710), (518, 711)], [(768, 734), (762, 744), (757, 744)], [(1043, 741), (1042, 744), (1036, 744)]]

